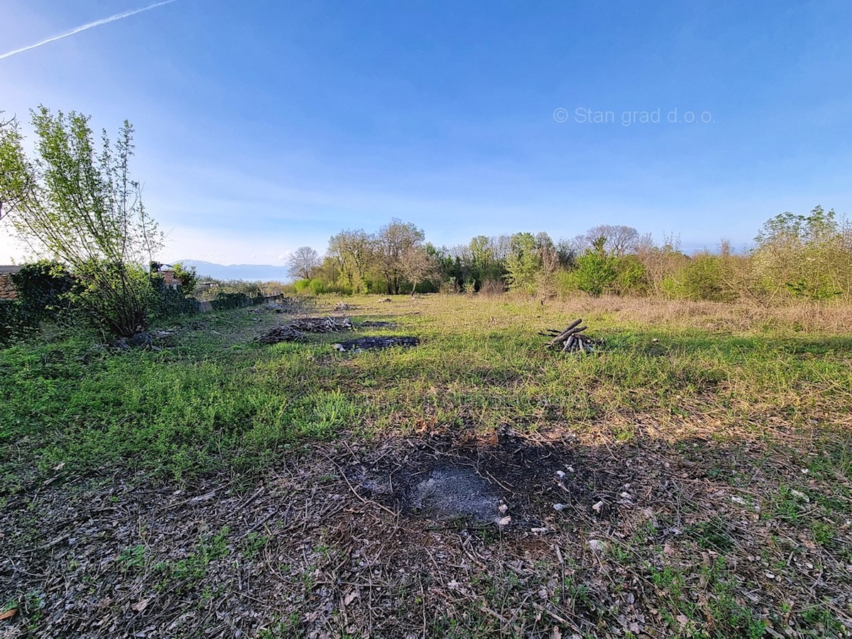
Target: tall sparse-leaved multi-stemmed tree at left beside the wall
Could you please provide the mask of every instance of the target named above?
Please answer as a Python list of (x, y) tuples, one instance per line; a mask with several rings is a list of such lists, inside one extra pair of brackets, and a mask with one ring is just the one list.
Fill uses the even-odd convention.
[(76, 301), (96, 324), (129, 336), (147, 325), (153, 288), (143, 264), (162, 242), (130, 177), (133, 127), (96, 150), (89, 117), (32, 112), (35, 158), (16, 123), (0, 129), (3, 215), (37, 254), (71, 266), (83, 286)]

